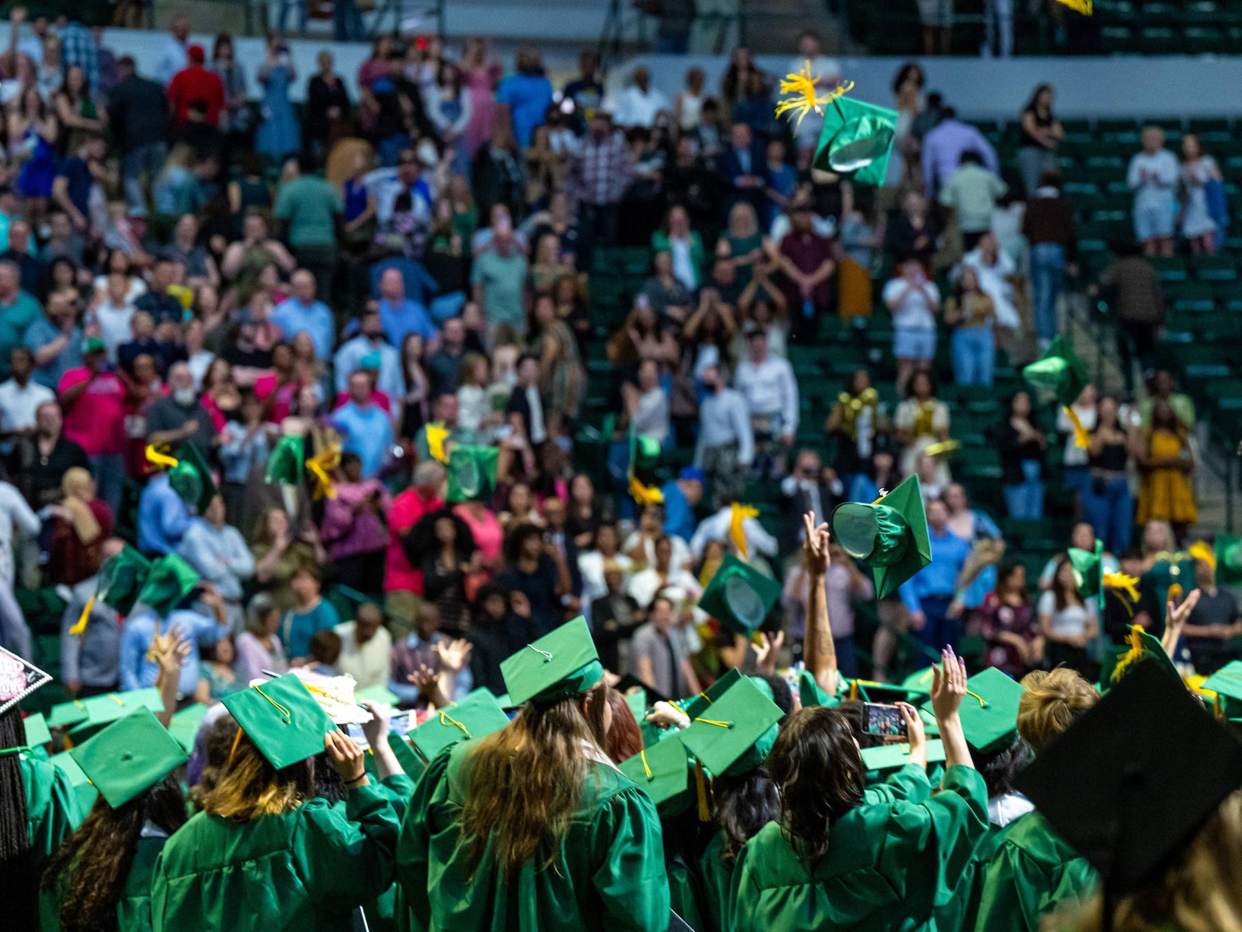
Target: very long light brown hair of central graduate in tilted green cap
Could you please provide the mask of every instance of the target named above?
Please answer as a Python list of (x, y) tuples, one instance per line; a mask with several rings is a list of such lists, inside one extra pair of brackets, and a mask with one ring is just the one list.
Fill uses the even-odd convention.
[(582, 743), (602, 749), (607, 742), (607, 693), (606, 683), (594, 686), (585, 711), (584, 696), (550, 706), (528, 702), (508, 727), (471, 751), (462, 839), (472, 871), (493, 838), (497, 866), (507, 877), (537, 856), (543, 867), (555, 861), (591, 770)]

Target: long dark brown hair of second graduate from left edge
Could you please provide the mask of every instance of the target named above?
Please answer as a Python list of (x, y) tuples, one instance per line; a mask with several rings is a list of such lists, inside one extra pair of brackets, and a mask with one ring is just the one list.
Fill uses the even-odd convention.
[(103, 797), (77, 831), (65, 839), (43, 871), (43, 887), (60, 893), (61, 932), (112, 932), (143, 825), (153, 821), (171, 835), (185, 824), (181, 785), (169, 774), (113, 809)]

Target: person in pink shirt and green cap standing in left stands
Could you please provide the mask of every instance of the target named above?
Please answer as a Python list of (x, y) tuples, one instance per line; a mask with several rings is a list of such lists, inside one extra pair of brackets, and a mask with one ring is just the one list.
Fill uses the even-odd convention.
[(86, 340), (82, 362), (61, 377), (56, 398), (65, 410), (65, 436), (86, 451), (96, 496), (116, 514), (125, 482), (125, 385), (98, 337)]

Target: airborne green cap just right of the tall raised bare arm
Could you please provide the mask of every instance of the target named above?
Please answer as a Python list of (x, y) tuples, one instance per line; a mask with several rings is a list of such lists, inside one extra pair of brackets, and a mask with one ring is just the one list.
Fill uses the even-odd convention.
[(841, 549), (874, 570), (883, 599), (932, 562), (923, 487), (910, 476), (876, 505), (842, 502), (828, 518)]

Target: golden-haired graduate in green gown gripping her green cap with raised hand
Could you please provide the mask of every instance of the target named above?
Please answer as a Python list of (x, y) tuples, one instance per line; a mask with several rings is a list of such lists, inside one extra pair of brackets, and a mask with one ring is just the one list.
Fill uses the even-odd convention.
[[(389, 793), (296, 676), (222, 701), (237, 736), (202, 811), (155, 864), (153, 931), (349, 928), (354, 908), (392, 882)], [(320, 753), (344, 784), (344, 815), (314, 795)]]

